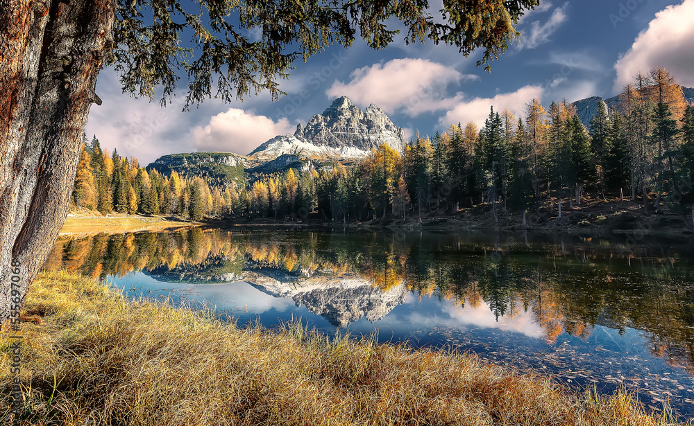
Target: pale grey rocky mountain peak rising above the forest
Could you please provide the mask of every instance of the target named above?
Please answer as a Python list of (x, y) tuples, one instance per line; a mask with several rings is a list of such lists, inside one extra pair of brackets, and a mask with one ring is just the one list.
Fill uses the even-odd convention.
[(257, 159), (270, 159), (281, 154), (305, 157), (363, 157), (371, 148), (387, 143), (402, 150), (407, 141), (405, 132), (397, 127), (378, 106), (359, 109), (346, 96), (337, 98), (323, 114), (313, 116), (306, 126), (296, 127), (294, 134), (276, 136), (251, 152)]

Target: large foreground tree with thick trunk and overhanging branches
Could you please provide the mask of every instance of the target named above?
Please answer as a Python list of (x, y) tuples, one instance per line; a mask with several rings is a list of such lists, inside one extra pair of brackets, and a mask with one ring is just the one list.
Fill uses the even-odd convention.
[[(329, 44), (350, 46), (357, 31), (371, 48), (384, 48), (398, 33), (387, 26), (396, 19), (405, 23), (408, 43), (431, 39), (457, 46), (462, 55), (484, 48), (478, 64), (489, 69), (518, 35), (514, 24), (539, 0), (446, 1), (443, 21), (428, 3), (414, 0), (378, 6), (340, 0), (198, 3), (193, 13), (176, 0), (0, 3), (0, 57), (6, 59), (0, 68), (0, 319), (10, 318), (11, 305), (23, 305), (65, 222), (87, 114), (92, 103), (101, 103), (94, 87), (103, 66), (115, 65), (130, 94), (152, 99), (160, 87), (162, 104), (173, 96), (180, 70), (189, 77), (186, 107), (210, 98), (213, 81), (215, 97), (225, 101), (262, 89), (278, 98), (278, 78), (287, 77), (294, 60), (307, 60)], [(254, 29), (256, 41), (249, 39)], [(192, 36), (195, 50), (183, 45), (183, 34)], [(13, 264), (22, 271), (15, 283), (21, 296), (14, 298)]]

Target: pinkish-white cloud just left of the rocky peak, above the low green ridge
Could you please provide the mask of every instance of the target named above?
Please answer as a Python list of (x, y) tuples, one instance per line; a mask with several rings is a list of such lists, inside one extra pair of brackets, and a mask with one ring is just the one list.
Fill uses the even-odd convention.
[(208, 125), (192, 130), (193, 144), (199, 151), (228, 151), (246, 155), (278, 134), (294, 130), (287, 118), (275, 123), (266, 116), (230, 108), (210, 118)]

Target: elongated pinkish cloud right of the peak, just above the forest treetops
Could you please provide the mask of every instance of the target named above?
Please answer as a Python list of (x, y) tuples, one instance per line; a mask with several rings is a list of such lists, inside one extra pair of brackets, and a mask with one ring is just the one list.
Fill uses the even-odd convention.
[(489, 108), (494, 107), (494, 111), (501, 113), (504, 109), (509, 109), (516, 117), (523, 116), (525, 104), (532, 98), (541, 99), (543, 88), (539, 86), (525, 86), (508, 94), (498, 94), (493, 98), (474, 98), (462, 103), (458, 103), (446, 115), (439, 118), (441, 127), (448, 127), (452, 124), (462, 123), (465, 125), (472, 121), (477, 127), (484, 125), (484, 120), (489, 116)]

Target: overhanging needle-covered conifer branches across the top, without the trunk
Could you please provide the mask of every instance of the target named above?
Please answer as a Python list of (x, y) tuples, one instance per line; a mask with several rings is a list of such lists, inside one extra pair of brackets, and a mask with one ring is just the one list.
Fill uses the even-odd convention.
[[(425, 0), (209, 0), (190, 12), (176, 0), (118, 0), (108, 60), (124, 91), (153, 98), (161, 87), (162, 105), (174, 95), (180, 69), (189, 78), (184, 109), (210, 98), (213, 81), (214, 97), (226, 102), (262, 89), (276, 99), (282, 94), (277, 78), (287, 78), (294, 60), (306, 61), (331, 44), (351, 46), (357, 33), (371, 48), (385, 48), (400, 33), (389, 28), (393, 21), (404, 26), (407, 44), (429, 39), (456, 46), (464, 56), (484, 48), (477, 65), (489, 69), (520, 35), (514, 25), (538, 5), (446, 0), (434, 11)], [(182, 46), (184, 35), (191, 47)]]

